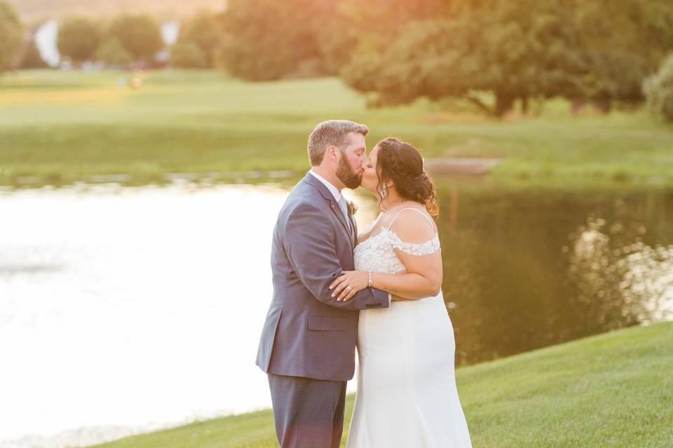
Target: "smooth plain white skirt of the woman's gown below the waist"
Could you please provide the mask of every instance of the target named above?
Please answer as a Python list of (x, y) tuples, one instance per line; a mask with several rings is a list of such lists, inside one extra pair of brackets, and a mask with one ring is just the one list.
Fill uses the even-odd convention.
[(442, 293), (360, 311), (348, 448), (472, 447)]

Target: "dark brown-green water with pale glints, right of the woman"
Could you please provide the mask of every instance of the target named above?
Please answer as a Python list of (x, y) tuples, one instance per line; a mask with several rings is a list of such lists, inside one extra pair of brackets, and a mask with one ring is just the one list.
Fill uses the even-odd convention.
[[(673, 193), (443, 186), (457, 362), (673, 318)], [(455, 207), (455, 206), (453, 206)]]

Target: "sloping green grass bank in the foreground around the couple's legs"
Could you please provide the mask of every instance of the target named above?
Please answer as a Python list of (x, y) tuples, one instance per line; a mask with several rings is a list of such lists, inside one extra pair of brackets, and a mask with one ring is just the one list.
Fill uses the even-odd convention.
[[(672, 372), (673, 323), (665, 322), (461, 367), (457, 379), (475, 448), (669, 448)], [(346, 428), (352, 407), (351, 395)], [(345, 442), (346, 433), (342, 446)], [(276, 446), (270, 410), (97, 445)]]

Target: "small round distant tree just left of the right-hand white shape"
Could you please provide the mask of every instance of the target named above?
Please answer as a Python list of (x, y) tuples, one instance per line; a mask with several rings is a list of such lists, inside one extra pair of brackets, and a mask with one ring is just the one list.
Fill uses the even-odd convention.
[(151, 62), (163, 48), (159, 26), (146, 15), (122, 15), (110, 25), (109, 34), (119, 39), (135, 60)]

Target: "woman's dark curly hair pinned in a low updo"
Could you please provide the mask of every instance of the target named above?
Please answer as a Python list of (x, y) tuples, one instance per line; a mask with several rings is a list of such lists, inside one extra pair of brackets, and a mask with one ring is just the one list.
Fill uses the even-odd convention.
[(393, 181), (397, 194), (405, 200), (419, 202), (426, 206), (428, 214), (437, 218), (440, 206), (437, 204), (436, 189), (433, 181), (423, 169), (423, 158), (419, 151), (405, 141), (388, 137), (379, 141), (379, 155), (376, 158), (376, 173), (379, 185)]

